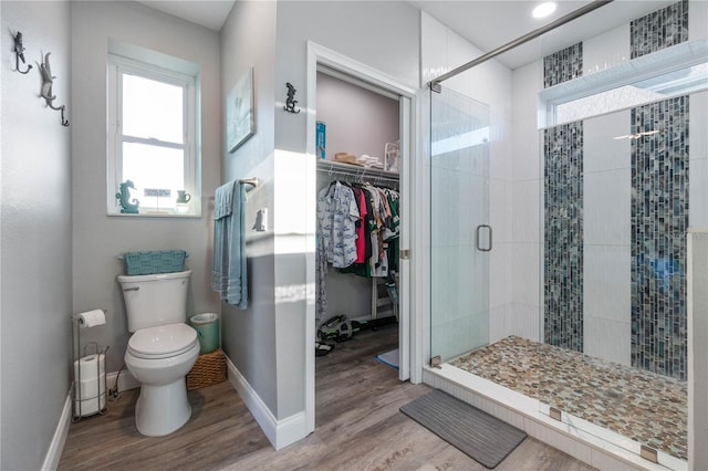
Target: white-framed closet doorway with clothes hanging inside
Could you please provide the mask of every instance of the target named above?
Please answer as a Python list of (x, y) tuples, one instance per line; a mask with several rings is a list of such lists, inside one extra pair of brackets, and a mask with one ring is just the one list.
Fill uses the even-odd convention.
[[(392, 354), (384, 360), (397, 363), (399, 380), (410, 378), (409, 249), (414, 227), (410, 163), (415, 142), (415, 90), (392, 77), (317, 44), (308, 44), (308, 154), (313, 164), (309, 172), (313, 178), (308, 181), (308, 189), (313, 203), (311, 212), (315, 216), (311, 219), (316, 219), (321, 229), (321, 211), (326, 207), (316, 206), (319, 197), (326, 199), (335, 191), (337, 198), (341, 193), (351, 195), (347, 198), (354, 202), (360, 216), (351, 216), (357, 224), (347, 231), (358, 231), (355, 237), (360, 242), (364, 233), (368, 247), (366, 259), (361, 263), (361, 249), (356, 249), (351, 240), (348, 253), (343, 253), (343, 240), (323, 242), (319, 231), (314, 237), (315, 252), (322, 249), (322, 259), (334, 257), (337, 262), (326, 263), (326, 275), (320, 270), (320, 266), (324, 269), (324, 263), (317, 263), (322, 260), (319, 257), (313, 257), (308, 266), (308, 280), (314, 286), (306, 322), (306, 344), (311, 353), (306, 355), (305, 367), (305, 415), (310, 431), (315, 426), (315, 349), (311, 347), (315, 343), (333, 344), (334, 349), (327, 355), (336, 355), (336, 335), (347, 335), (342, 329), (381, 328), (384, 332), (397, 326), (397, 355), (382, 353)], [(373, 208), (372, 201), (379, 207)], [(367, 216), (362, 218), (358, 208)], [(381, 212), (373, 216), (372, 209)], [(374, 237), (368, 231), (371, 227), (379, 231)], [(334, 231), (337, 232), (343, 236), (342, 231)], [(351, 236), (347, 233), (345, 238)], [(337, 244), (336, 253), (332, 249), (327, 254), (327, 244), (334, 248), (333, 243)], [(355, 249), (360, 252), (352, 253)], [(354, 257), (357, 262), (351, 263)], [(344, 325), (337, 322), (340, 315), (346, 316)], [(330, 320), (334, 321), (320, 328)]]

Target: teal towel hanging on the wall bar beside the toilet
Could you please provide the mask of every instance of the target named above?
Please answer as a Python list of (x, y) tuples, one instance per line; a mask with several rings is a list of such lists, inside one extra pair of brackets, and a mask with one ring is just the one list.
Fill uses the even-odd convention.
[(214, 198), (214, 257), (211, 287), (221, 300), (248, 307), (246, 258), (246, 187), (230, 181)]

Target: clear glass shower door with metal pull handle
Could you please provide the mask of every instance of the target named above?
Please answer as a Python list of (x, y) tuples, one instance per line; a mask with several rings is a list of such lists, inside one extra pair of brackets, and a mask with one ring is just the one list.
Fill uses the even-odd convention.
[(430, 358), (444, 363), (489, 343), (489, 107), (429, 95)]

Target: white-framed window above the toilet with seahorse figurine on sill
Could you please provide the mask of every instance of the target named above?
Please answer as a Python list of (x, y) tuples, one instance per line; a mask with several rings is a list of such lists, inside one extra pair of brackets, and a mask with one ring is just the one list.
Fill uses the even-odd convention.
[(138, 216), (200, 216), (196, 102), (195, 76), (108, 56), (108, 214), (135, 216), (129, 195)]

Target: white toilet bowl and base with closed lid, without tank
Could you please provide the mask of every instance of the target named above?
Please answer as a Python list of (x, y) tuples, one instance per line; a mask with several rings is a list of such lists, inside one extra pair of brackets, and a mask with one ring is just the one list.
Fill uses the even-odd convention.
[(125, 365), (140, 381), (135, 425), (147, 437), (169, 435), (191, 416), (185, 376), (199, 356), (197, 332), (186, 324), (137, 331), (128, 341)]

